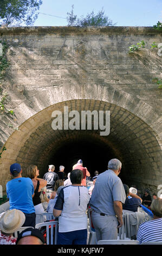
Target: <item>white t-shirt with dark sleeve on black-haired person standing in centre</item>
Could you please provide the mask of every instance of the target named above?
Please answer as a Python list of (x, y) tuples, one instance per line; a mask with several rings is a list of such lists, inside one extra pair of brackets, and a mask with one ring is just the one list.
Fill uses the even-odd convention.
[(59, 217), (59, 232), (87, 229), (87, 205), (90, 196), (87, 187), (73, 186), (62, 188), (54, 209), (62, 210)]

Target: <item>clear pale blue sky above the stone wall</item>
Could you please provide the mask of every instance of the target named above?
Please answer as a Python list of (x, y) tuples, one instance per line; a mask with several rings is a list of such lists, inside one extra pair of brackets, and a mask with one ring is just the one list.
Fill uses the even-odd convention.
[(67, 26), (67, 13), (73, 4), (77, 17), (92, 11), (97, 14), (103, 7), (116, 26), (153, 26), (162, 22), (162, 0), (43, 0), (33, 26)]

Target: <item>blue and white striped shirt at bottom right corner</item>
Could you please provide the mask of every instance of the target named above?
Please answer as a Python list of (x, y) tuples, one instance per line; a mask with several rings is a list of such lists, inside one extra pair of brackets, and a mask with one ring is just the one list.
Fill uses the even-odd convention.
[(137, 240), (139, 243), (148, 241), (162, 242), (162, 218), (140, 224)]

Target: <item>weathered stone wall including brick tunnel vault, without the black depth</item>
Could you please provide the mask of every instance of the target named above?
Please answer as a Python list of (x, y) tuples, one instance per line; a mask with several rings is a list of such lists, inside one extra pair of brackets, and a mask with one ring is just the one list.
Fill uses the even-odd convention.
[[(154, 41), (162, 42), (161, 33), (150, 27), (24, 27), (0, 33), (10, 60), (3, 88), (15, 112), (13, 119), (1, 116), (4, 190), (11, 163), (35, 163), (43, 174), (57, 148), (78, 136), (105, 143), (122, 160), (130, 184), (154, 191), (162, 184), (161, 90), (152, 82), (162, 78), (162, 57), (151, 49)], [(141, 40), (146, 47), (128, 54)], [(64, 105), (69, 111), (110, 110), (110, 135), (53, 131), (51, 112)]]

